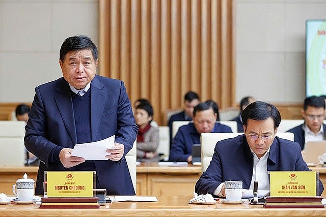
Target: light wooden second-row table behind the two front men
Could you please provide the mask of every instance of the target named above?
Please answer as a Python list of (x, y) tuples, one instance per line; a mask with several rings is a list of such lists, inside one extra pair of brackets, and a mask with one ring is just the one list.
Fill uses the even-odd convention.
[[(319, 178), (326, 187), (326, 167), (310, 167), (319, 171)], [(137, 195), (192, 196), (201, 167), (191, 164), (141, 163), (137, 166)], [(0, 193), (12, 195), (12, 185), (24, 173), (36, 180), (38, 167), (0, 167)], [(326, 190), (322, 193), (326, 196)]]

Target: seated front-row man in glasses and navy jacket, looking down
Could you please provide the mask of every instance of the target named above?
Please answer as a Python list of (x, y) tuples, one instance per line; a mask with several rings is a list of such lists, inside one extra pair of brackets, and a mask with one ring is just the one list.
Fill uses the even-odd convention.
[[(197, 194), (225, 196), (224, 182), (242, 181), (243, 189), (268, 190), (267, 171), (309, 170), (300, 145), (276, 136), (281, 114), (271, 104), (257, 101), (242, 111), (244, 134), (219, 141), (212, 160), (196, 183)], [(319, 193), (323, 191), (319, 181)]]

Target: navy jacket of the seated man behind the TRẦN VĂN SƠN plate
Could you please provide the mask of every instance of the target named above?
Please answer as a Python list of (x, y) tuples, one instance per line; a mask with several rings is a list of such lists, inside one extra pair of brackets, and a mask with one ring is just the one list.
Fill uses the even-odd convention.
[[(196, 183), (197, 194), (213, 194), (225, 181), (242, 181), (243, 189), (249, 189), (253, 175), (254, 158), (245, 135), (219, 141), (212, 161)], [(270, 146), (267, 171), (307, 171), (307, 164), (296, 142), (276, 137)], [(319, 181), (319, 194), (323, 185)]]

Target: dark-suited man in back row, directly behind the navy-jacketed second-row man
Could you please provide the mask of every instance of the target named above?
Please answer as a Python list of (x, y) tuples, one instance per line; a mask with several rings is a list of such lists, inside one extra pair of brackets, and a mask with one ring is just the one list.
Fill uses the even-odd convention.
[(172, 145), (172, 123), (173, 121), (180, 121), (180, 120), (192, 120), (193, 119), (193, 111), (195, 106), (200, 103), (199, 96), (194, 91), (188, 91), (184, 95), (183, 106), (184, 110), (177, 114), (174, 114), (170, 117), (168, 126), (170, 129), (170, 149)]

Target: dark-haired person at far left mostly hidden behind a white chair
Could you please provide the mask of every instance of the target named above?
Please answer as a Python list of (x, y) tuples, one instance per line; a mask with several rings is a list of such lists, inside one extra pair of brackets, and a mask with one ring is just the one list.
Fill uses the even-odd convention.
[[(20, 104), (16, 107), (15, 114), (17, 120), (22, 120), (27, 123), (29, 120), (29, 112), (30, 112), (30, 106), (26, 104)], [(32, 154), (30, 151), (28, 151), (25, 148), (25, 166), (38, 166), (40, 164), (40, 160)]]

